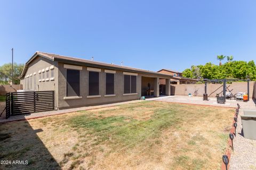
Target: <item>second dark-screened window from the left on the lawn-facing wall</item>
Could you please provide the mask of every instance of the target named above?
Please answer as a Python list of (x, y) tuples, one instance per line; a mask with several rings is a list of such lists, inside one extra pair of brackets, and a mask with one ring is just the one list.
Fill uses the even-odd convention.
[(89, 71), (89, 96), (99, 95), (99, 72)]

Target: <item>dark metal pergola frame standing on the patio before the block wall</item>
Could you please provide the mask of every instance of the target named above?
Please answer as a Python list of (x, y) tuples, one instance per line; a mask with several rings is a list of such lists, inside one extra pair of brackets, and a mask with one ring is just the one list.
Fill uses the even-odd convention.
[(227, 87), (227, 81), (247, 81), (247, 95), (248, 95), (248, 101), (250, 99), (249, 96), (249, 82), (250, 79), (204, 79), (204, 93), (207, 94), (207, 82), (223, 82), (223, 96), (226, 98), (226, 87)]

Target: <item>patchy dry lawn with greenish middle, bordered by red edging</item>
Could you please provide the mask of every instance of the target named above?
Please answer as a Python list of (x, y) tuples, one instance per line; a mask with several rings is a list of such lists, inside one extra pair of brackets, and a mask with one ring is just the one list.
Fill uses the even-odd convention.
[(19, 168), (218, 169), (232, 117), (229, 108), (143, 101), (13, 122), (0, 127), (0, 158), (30, 160)]

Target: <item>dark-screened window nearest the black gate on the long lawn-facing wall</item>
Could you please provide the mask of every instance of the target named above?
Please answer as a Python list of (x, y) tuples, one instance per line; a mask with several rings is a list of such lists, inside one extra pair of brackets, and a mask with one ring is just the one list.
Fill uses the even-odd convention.
[(67, 97), (80, 95), (80, 71), (67, 69)]

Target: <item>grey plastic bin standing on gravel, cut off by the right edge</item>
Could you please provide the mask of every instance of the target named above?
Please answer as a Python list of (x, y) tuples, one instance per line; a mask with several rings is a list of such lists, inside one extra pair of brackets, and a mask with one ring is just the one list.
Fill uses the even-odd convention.
[(256, 140), (256, 110), (244, 110), (241, 120), (244, 138)]

